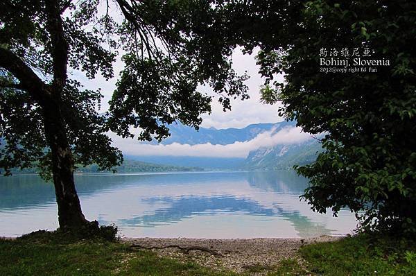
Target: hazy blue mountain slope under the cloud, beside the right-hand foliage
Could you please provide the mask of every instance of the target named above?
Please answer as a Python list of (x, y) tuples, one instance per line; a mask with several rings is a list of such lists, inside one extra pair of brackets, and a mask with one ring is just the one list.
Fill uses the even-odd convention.
[(313, 139), (300, 144), (277, 145), (250, 151), (242, 168), (249, 170), (286, 170), (294, 165), (315, 161), (322, 151), (319, 141)]

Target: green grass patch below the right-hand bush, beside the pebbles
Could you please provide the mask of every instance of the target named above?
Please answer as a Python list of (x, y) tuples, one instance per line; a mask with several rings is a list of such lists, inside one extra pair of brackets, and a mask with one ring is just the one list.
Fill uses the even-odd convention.
[(361, 234), (300, 253), (318, 275), (416, 275), (416, 245), (404, 239)]

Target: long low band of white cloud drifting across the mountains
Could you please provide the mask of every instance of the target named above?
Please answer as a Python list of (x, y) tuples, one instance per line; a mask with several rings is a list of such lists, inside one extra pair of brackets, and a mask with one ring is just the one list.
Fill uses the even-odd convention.
[(169, 156), (198, 156), (198, 157), (247, 157), (251, 150), (278, 144), (297, 144), (310, 139), (311, 136), (302, 132), (301, 128), (284, 128), (279, 132), (273, 130), (262, 132), (249, 141), (236, 141), (233, 144), (140, 144), (132, 139), (113, 137), (114, 144), (124, 154), (128, 155), (169, 155)]

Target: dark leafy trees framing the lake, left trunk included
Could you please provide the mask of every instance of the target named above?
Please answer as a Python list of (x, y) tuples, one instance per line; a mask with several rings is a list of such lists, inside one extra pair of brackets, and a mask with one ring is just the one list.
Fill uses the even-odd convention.
[[(263, 101), (281, 101), (286, 119), (325, 135), (316, 162), (297, 168), (311, 179), (312, 208), (349, 207), (367, 229), (415, 232), (415, 25), (416, 3), (406, 0), (2, 1), (1, 166), (52, 171), (60, 225), (78, 225), (75, 162), (118, 164), (109, 130), (162, 139), (176, 120), (198, 128), (211, 102), (198, 85), (225, 109), (246, 98), (230, 56), (237, 45), (259, 47)], [(353, 65), (355, 51), (388, 64)], [(98, 114), (101, 92), (68, 74), (110, 78), (118, 55), (125, 67), (109, 112)]]

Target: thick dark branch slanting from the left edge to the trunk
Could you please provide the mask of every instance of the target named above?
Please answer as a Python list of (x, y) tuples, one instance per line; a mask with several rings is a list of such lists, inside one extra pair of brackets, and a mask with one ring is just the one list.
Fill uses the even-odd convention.
[(13, 74), (19, 80), (21, 89), (29, 92), (35, 101), (38, 103), (43, 101), (48, 85), (15, 53), (0, 47), (0, 67)]

